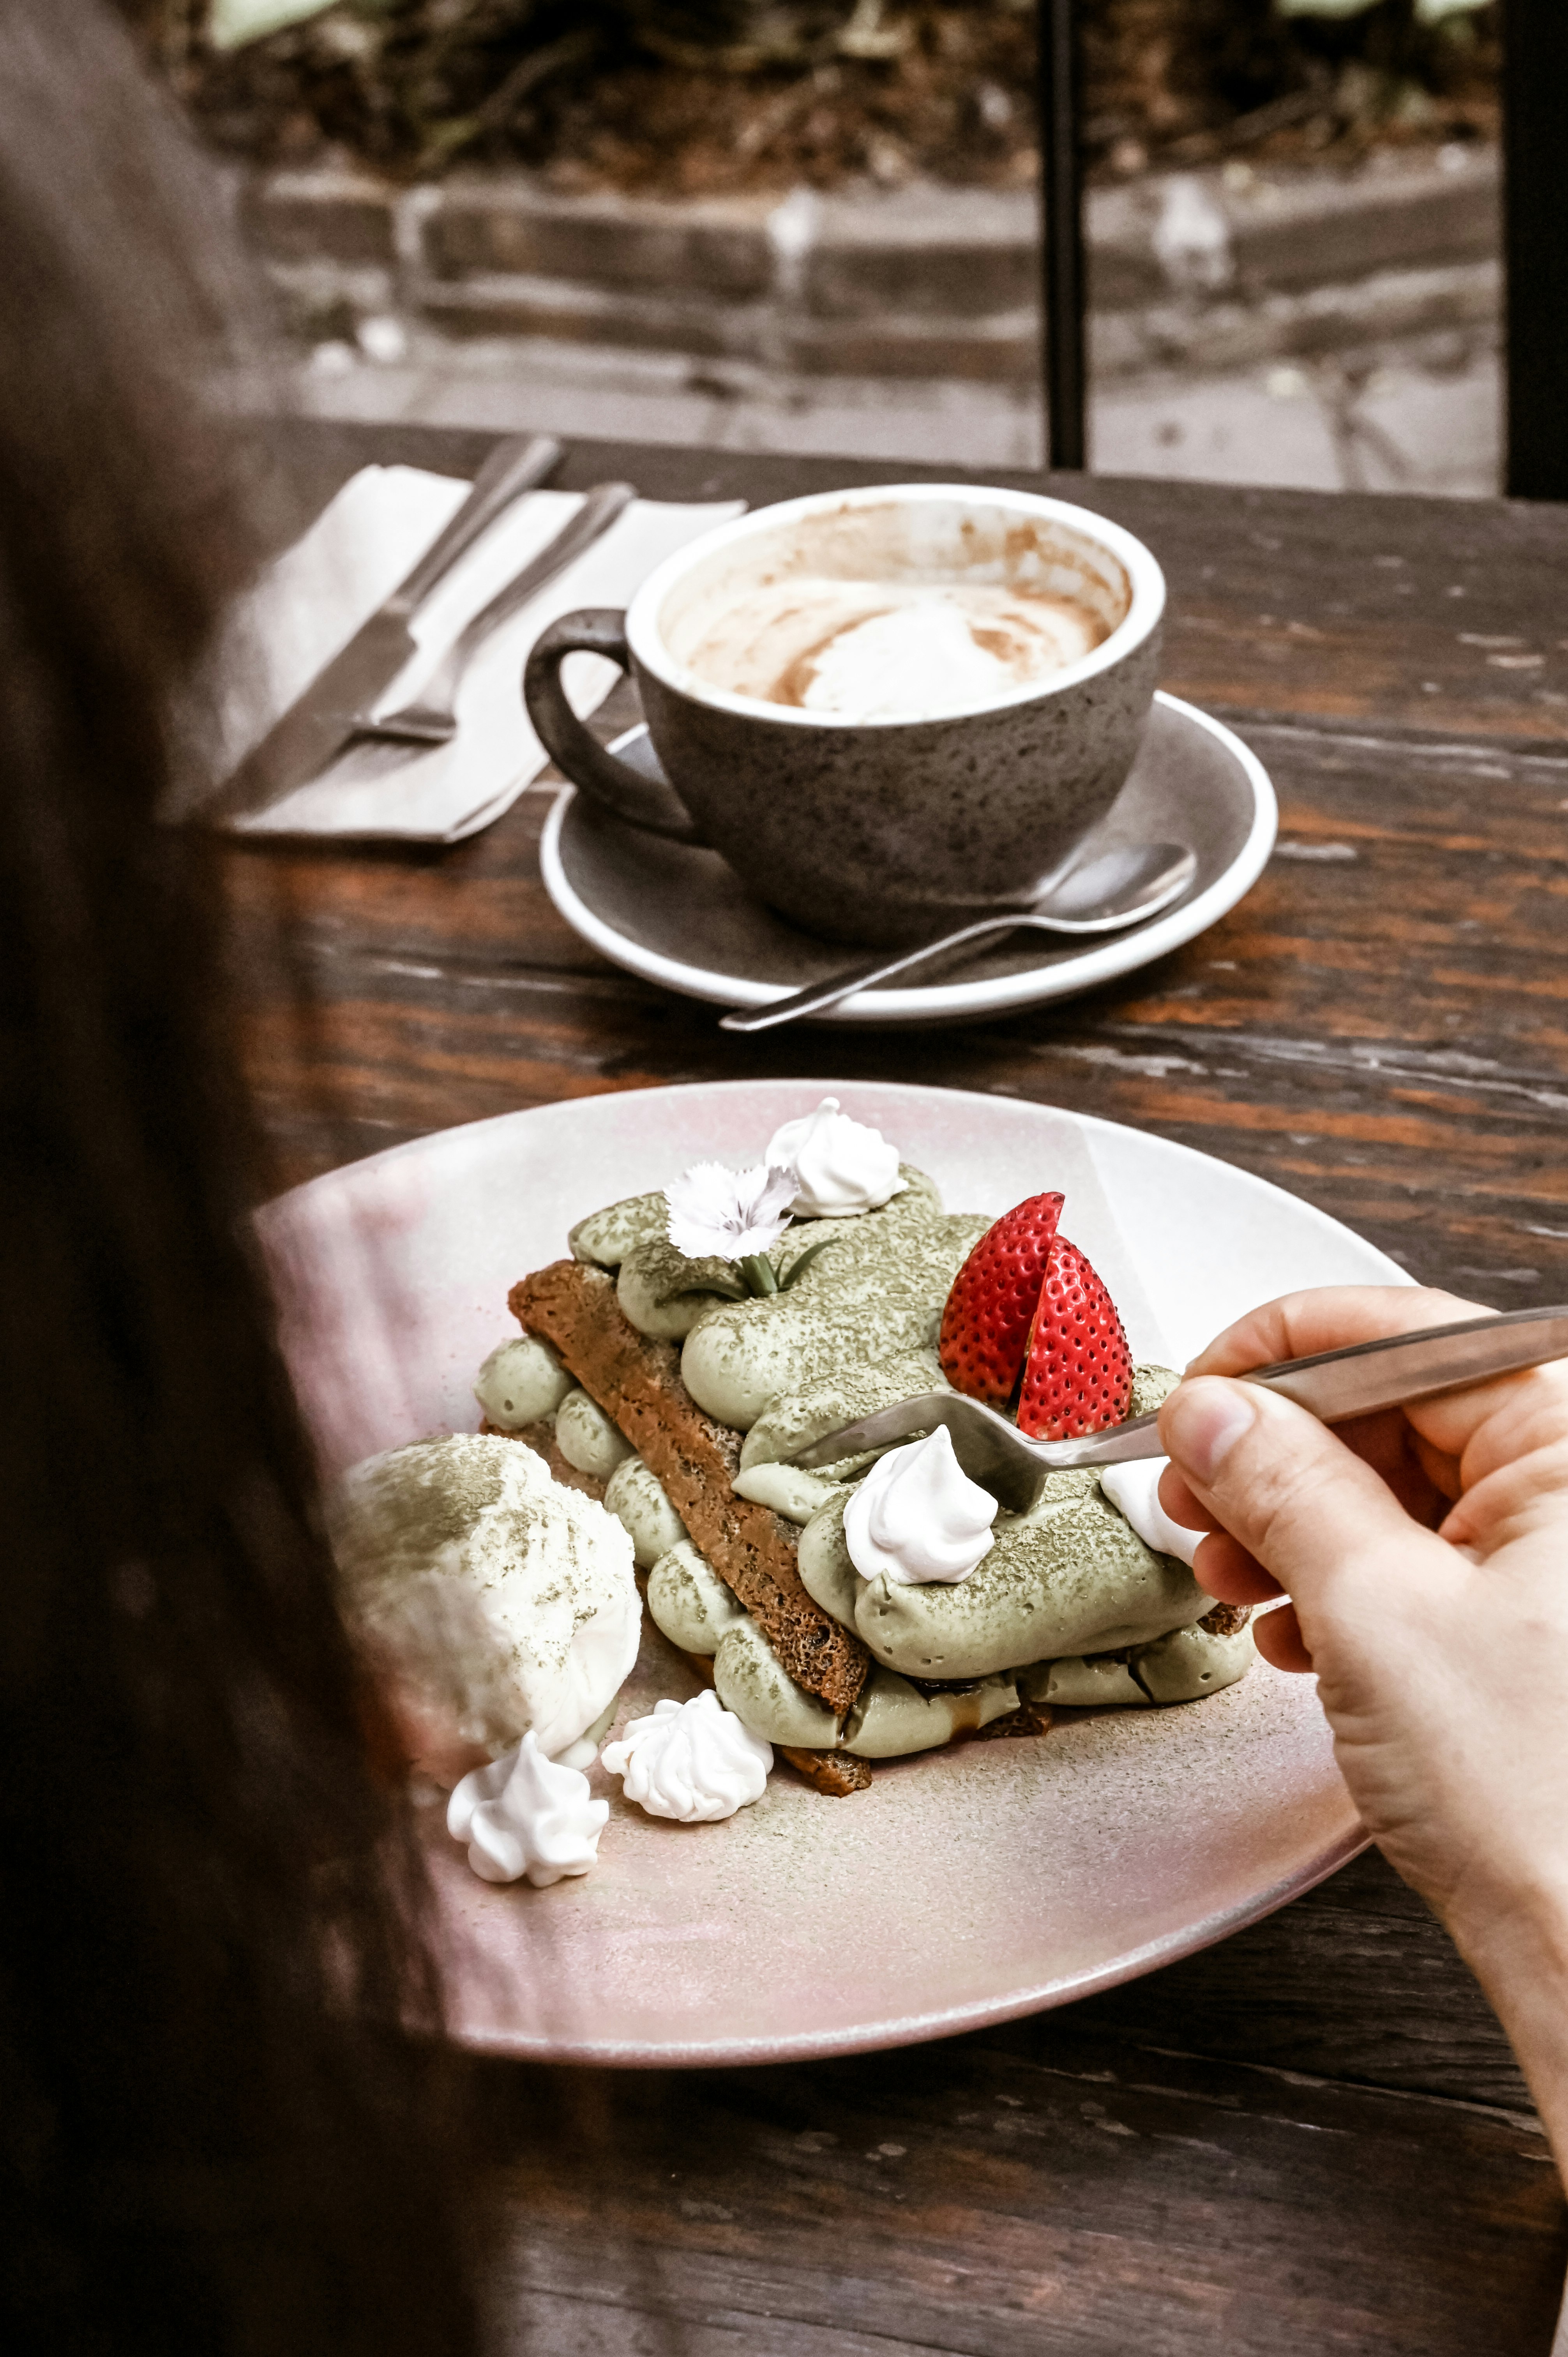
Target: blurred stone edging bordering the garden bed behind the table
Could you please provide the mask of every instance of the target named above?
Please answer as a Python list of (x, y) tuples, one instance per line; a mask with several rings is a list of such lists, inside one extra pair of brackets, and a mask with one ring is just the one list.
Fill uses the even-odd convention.
[[(373, 313), (453, 337), (547, 337), (804, 375), (1026, 382), (1037, 210), (1026, 191), (849, 191), (665, 203), (566, 198), (523, 172), (391, 189), (358, 172), (238, 186), (302, 335)], [(1087, 200), (1103, 377), (1250, 365), (1497, 316), (1485, 148), (1353, 177), (1148, 177)], [(328, 325), (325, 332), (342, 332)]]

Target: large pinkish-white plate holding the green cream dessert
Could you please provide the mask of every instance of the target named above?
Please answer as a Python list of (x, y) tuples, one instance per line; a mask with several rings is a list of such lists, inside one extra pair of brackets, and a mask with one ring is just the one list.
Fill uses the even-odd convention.
[[(1099, 1193), (1134, 1351), (1158, 1329), (1174, 1365), (1290, 1287), (1405, 1282), (1261, 1178), (1049, 1105), (832, 1080), (592, 1096), (398, 1146), (262, 1214), (328, 1475), (474, 1431), (507, 1287), (559, 1259), (573, 1221), (696, 1160), (736, 1162), (825, 1091), (950, 1209), (1004, 1211), (1061, 1174), (1073, 1221), (1073, 1193)], [(1082, 1244), (1099, 1256), (1099, 1233)], [(1106, 1249), (1115, 1270), (1115, 1235)], [(693, 1690), (648, 1626), (620, 1716)], [(1313, 1681), (1264, 1662), (1186, 1709), (1066, 1711), (1047, 1737), (882, 1765), (846, 1801), (778, 1768), (722, 1824), (665, 1824), (601, 1768), (592, 1782), (611, 1801), (599, 1867), (552, 1890), (476, 1881), (443, 1808), (420, 1813), (469, 2046), (710, 2065), (948, 2036), (1221, 1940), (1363, 1848)]]

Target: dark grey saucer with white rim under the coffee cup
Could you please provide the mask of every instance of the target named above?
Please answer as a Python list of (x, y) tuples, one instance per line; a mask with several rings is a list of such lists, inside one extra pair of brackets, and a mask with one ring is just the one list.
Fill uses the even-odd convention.
[[(663, 780), (648, 731), (613, 752)], [(1179, 841), (1198, 853), (1188, 891), (1158, 917), (1106, 940), (1052, 945), (1016, 933), (974, 957), (962, 978), (858, 990), (818, 1023), (974, 1023), (1066, 999), (1193, 940), (1257, 884), (1278, 825), (1269, 771), (1221, 721), (1155, 695), (1127, 785), (1085, 851)], [(844, 943), (813, 940), (755, 900), (717, 851), (667, 844), (622, 825), (566, 787), (540, 841), (545, 891), (613, 964), (714, 1006), (766, 1006), (846, 964)]]

